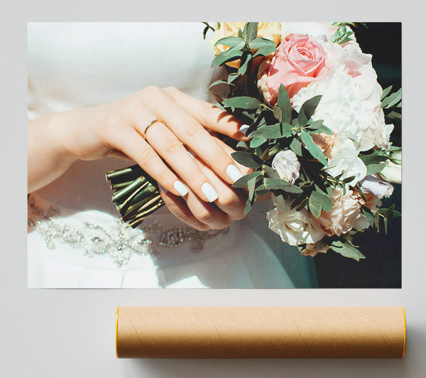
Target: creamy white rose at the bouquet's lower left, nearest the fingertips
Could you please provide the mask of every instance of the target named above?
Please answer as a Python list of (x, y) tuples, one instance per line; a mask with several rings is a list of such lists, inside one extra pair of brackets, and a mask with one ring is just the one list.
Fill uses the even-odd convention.
[(324, 237), (324, 231), (307, 210), (296, 211), (290, 210), (290, 205), (286, 207), (285, 211), (275, 207), (266, 214), (269, 228), (280, 235), (283, 242), (290, 245), (311, 244)]

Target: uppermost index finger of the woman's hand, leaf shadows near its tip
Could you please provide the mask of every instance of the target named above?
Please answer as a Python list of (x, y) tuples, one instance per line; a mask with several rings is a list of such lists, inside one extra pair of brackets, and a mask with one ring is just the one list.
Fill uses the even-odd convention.
[(249, 140), (245, 134), (245, 131), (249, 129), (249, 125), (243, 124), (232, 114), (201, 99), (196, 99), (186, 93), (180, 92), (180, 90), (173, 87), (165, 88), (165, 92), (204, 127), (239, 141)]

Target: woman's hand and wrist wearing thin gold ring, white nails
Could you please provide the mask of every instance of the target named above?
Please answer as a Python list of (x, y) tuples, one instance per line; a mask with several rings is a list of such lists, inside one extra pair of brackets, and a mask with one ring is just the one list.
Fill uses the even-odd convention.
[[(161, 121), (147, 129), (155, 119)], [(40, 135), (36, 123), (43, 124), (43, 121), (48, 129), (44, 143), (49, 145), (48, 149), (53, 148), (56, 166), (50, 174), (37, 175), (37, 171), (40, 173), (40, 163), (43, 168), (45, 148), (40, 148), (43, 134)], [(224, 227), (228, 217), (241, 217), (245, 201), (241, 193), (230, 187), (241, 177), (241, 170), (230, 157), (230, 152), (226, 151), (226, 146), (209, 134), (206, 128), (244, 140), (246, 137), (240, 131), (243, 125), (212, 104), (185, 95), (175, 88), (147, 87), (116, 102), (51, 114), (32, 123), (35, 125), (28, 127), (30, 192), (47, 185), (77, 159), (128, 156), (168, 193), (185, 198), (189, 208), (197, 198), (200, 205), (209, 209), (209, 215), (204, 211), (200, 217), (201, 222), (209, 219), (202, 222), (204, 225)], [(39, 139), (38, 144), (35, 139)], [(190, 156), (185, 146), (195, 153), (197, 159)], [(34, 167), (34, 164), (31, 166), (31, 158), (39, 158), (38, 167)], [(35, 172), (31, 168), (35, 168)], [(224, 208), (226, 222), (217, 221), (219, 210), (208, 202), (216, 202), (219, 209)], [(217, 215), (211, 217), (214, 214)], [(190, 223), (194, 223), (192, 218)]]

